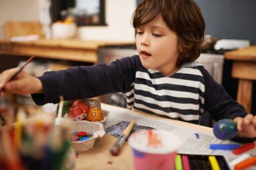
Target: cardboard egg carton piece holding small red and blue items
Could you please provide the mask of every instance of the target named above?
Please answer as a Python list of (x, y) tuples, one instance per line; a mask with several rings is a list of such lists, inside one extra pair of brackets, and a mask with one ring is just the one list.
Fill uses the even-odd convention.
[(92, 134), (91, 138), (88, 138), (84, 141), (74, 141), (71, 142), (72, 147), (75, 151), (87, 151), (88, 149), (94, 146), (94, 142), (97, 138), (102, 138), (106, 133), (103, 127), (103, 124), (98, 122), (89, 122), (84, 120), (73, 121), (73, 132), (82, 132), (85, 131), (88, 134)]

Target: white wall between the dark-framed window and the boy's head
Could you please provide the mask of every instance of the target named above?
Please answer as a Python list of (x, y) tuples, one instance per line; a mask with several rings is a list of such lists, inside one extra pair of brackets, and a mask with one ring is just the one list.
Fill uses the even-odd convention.
[(106, 24), (102, 27), (81, 27), (78, 36), (84, 40), (135, 41), (131, 17), (135, 0), (106, 0)]

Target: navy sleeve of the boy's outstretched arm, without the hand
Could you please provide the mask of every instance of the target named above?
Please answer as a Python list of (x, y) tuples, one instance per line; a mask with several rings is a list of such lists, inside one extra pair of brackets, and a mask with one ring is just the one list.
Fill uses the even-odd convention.
[(110, 65), (73, 67), (63, 71), (50, 71), (38, 77), (43, 94), (32, 94), (38, 105), (58, 103), (59, 95), (65, 100), (96, 97), (125, 91), (135, 77), (135, 57), (122, 58)]

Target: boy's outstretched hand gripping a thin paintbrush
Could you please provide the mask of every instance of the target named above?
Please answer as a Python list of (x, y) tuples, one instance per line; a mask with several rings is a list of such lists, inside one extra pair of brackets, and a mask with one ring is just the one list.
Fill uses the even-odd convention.
[(13, 81), (9, 81), (20, 68), (3, 71), (0, 75), (1, 95), (6, 92), (29, 95), (31, 93), (42, 93), (42, 83), (39, 79), (32, 77), (26, 71), (21, 71)]

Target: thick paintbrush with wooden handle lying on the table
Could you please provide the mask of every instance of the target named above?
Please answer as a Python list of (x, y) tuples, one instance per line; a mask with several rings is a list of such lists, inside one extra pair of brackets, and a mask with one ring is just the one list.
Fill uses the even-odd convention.
[(123, 145), (123, 143), (125, 142), (125, 140), (127, 139), (127, 137), (129, 136), (134, 124), (135, 124), (135, 120), (131, 120), (130, 124), (127, 126), (127, 128), (125, 128), (125, 130), (123, 130), (123, 133), (117, 139), (117, 142), (115, 142), (115, 144), (113, 144), (113, 146), (111, 146), (110, 153), (113, 156), (119, 155), (119, 150), (120, 150), (121, 146)]

